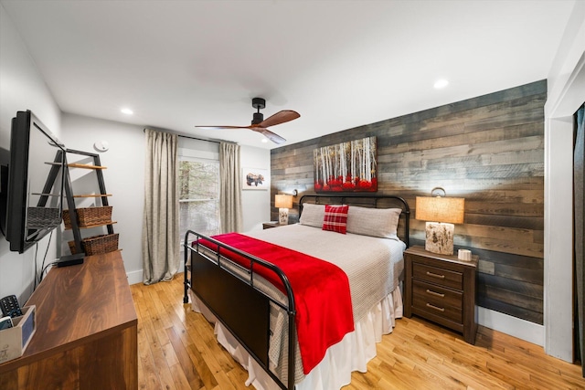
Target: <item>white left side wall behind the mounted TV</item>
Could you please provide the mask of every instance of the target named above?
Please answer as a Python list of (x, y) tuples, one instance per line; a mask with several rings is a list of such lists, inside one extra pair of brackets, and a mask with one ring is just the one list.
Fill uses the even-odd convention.
[[(16, 111), (30, 110), (60, 138), (61, 112), (51, 96), (27, 47), (0, 5), (0, 147), (10, 149), (10, 122)], [(56, 237), (48, 250), (48, 261), (56, 256)], [(48, 246), (48, 237), (38, 245), (37, 267)], [(35, 248), (23, 255), (10, 252), (0, 238), (0, 298), (15, 294), (21, 305), (32, 293), (35, 278)]]

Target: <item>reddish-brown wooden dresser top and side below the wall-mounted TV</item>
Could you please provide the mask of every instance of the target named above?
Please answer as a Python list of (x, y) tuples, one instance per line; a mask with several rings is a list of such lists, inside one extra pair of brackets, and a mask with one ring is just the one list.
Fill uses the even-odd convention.
[(37, 332), (0, 364), (3, 390), (138, 388), (138, 321), (120, 251), (51, 269), (27, 305), (37, 306)]

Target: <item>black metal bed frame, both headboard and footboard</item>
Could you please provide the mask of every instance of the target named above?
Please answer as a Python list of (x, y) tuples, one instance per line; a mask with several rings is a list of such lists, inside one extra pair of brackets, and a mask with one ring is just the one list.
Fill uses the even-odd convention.
[[(409, 246), (410, 207), (407, 202), (395, 195), (303, 195), (299, 201), (299, 216), (303, 212), (303, 204), (313, 199), (314, 204), (348, 204), (354, 206), (367, 206), (379, 208), (379, 202), (390, 199), (402, 209), (400, 219), (404, 217), (404, 242)], [(388, 207), (389, 208), (389, 207)], [(204, 248), (199, 244), (199, 239), (206, 239), (213, 244), (215, 249)], [(220, 321), (238, 342), (250, 353), (267, 374), (282, 388), (293, 390), (295, 372), (295, 337), (296, 324), (293, 289), (288, 278), (281, 269), (273, 264), (232, 248), (218, 240), (206, 237), (192, 230), (185, 234), (185, 273), (184, 273), (184, 297), (183, 302), (188, 302), (187, 291), (189, 289), (197, 295), (209, 311)], [(238, 254), (250, 261), (250, 269), (240, 266), (220, 255), (220, 248)], [(190, 255), (190, 266), (188, 265)], [(229, 267), (226, 267), (229, 264)], [(190, 269), (189, 269), (190, 267)], [(269, 294), (260, 290), (255, 279), (259, 278), (255, 269), (271, 269), (282, 280), (288, 304), (283, 304)], [(233, 269), (239, 269), (235, 272)], [(188, 271), (190, 276), (188, 277)], [(288, 385), (284, 385), (269, 367), (270, 346), (270, 305), (277, 305), (286, 311), (289, 321), (288, 343)], [(246, 321), (242, 321), (246, 319)]]

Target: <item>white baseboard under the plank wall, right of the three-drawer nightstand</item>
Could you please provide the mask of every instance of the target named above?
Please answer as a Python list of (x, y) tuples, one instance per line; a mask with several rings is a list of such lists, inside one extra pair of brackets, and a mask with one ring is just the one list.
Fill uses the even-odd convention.
[(545, 341), (545, 327), (537, 323), (522, 320), (501, 313), (499, 311), (492, 311), (489, 309), (477, 306), (478, 320), (477, 322), (497, 332), (503, 332), (514, 336), (518, 339), (524, 340), (528, 343), (544, 346)]

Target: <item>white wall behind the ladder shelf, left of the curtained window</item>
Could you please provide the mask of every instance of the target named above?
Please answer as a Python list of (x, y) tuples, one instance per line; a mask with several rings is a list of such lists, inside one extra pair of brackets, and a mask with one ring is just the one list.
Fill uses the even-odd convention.
[[(144, 131), (142, 126), (116, 121), (104, 121), (69, 113), (63, 113), (61, 139), (68, 149), (100, 154), (103, 179), (106, 190), (112, 194), (108, 203), (112, 206), (112, 220), (115, 233), (119, 233), (119, 248), (122, 248), (124, 267), (131, 282), (143, 280), (142, 233), (144, 208)], [(107, 141), (109, 150), (98, 152), (93, 144)], [(68, 159), (71, 156), (68, 155)], [(70, 170), (73, 189), (80, 193), (75, 180), (78, 174)], [(85, 171), (85, 170), (77, 170)], [(93, 174), (90, 172), (90, 174)], [(76, 183), (78, 182), (78, 183)], [(85, 180), (81, 185), (89, 185)], [(87, 201), (87, 200), (86, 200)], [(78, 205), (91, 206), (91, 205)], [(97, 205), (101, 206), (101, 205)], [(103, 227), (97, 228), (103, 229)], [(83, 237), (104, 234), (105, 230), (82, 232)], [(62, 242), (71, 240), (69, 231), (65, 232)], [(64, 248), (67, 248), (65, 246)]]

